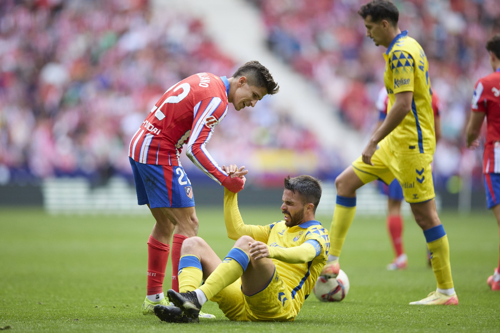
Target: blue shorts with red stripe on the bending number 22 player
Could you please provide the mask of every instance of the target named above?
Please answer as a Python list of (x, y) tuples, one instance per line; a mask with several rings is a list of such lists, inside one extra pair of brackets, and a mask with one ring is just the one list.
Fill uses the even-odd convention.
[(191, 182), (182, 166), (143, 164), (131, 157), (128, 160), (138, 204), (149, 203), (150, 208), (194, 206)]

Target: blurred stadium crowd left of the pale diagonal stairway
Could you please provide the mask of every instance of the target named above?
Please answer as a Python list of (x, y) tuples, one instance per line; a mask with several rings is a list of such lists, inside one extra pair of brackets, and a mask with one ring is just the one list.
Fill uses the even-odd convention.
[[(130, 175), (130, 138), (161, 94), (188, 75), (230, 76), (240, 65), (198, 19), (163, 12), (154, 20), (149, 9), (147, 0), (0, 2), (0, 182)], [(209, 142), (213, 157), (315, 149), (310, 130), (269, 107), (230, 104)]]

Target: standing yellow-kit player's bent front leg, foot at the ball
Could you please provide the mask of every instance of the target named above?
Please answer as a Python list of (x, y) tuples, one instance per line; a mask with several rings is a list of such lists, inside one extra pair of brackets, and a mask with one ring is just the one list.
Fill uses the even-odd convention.
[(354, 219), (356, 212), (356, 189), (364, 185), (354, 172), (352, 166), (348, 166), (335, 179), (337, 198), (333, 219), (330, 226), (330, 254), (321, 275), (335, 277), (340, 265), (338, 257), (342, 249), (347, 230)]

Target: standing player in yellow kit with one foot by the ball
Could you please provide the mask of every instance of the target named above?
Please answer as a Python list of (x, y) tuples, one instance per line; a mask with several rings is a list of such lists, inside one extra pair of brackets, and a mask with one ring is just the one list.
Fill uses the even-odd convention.
[(406, 30), (399, 30), (399, 12), (392, 2), (370, 1), (360, 7), (358, 14), (364, 19), (366, 35), (375, 45), (387, 47), (383, 53), (389, 97), (387, 116), (361, 156), (335, 179), (337, 197), (330, 228), (330, 255), (321, 275), (338, 273), (338, 257), (356, 209), (356, 189), (375, 179), (390, 184), (396, 178), (425, 235), (437, 281), (436, 291), (410, 304), (456, 305), (448, 238), (434, 202), (430, 163), (435, 132), (425, 52)]

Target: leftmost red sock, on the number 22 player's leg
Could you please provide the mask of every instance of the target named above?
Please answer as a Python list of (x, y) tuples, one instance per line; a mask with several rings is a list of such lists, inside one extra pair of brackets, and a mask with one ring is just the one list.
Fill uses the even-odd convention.
[[(147, 294), (163, 292), (166, 262), (170, 245), (149, 235), (147, 240)], [(178, 260), (178, 259), (177, 259)], [(178, 262), (178, 261), (177, 261)]]

